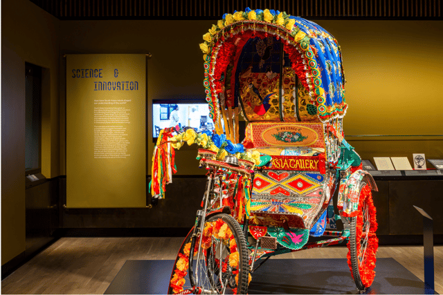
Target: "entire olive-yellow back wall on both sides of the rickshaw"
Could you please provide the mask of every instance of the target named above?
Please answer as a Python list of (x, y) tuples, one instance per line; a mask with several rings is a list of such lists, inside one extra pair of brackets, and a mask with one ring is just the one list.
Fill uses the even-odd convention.
[[(346, 135), (443, 134), (442, 21), (316, 21), (338, 39), (349, 109)], [(76, 53), (152, 53), (148, 102), (204, 93), (198, 44), (214, 21), (62, 21), (60, 48)], [(180, 32), (177, 34), (177, 32)], [(148, 104), (148, 115), (152, 110)], [(440, 122), (440, 124), (439, 124)], [(152, 134), (148, 118), (149, 135)], [(62, 129), (64, 130), (64, 129)], [(63, 136), (62, 136), (63, 138)], [(443, 137), (347, 137), (362, 158), (426, 153), (443, 157)], [(152, 142), (148, 142), (148, 169)], [(203, 174), (196, 148), (177, 153), (177, 174)], [(150, 170), (148, 171), (150, 173)]]

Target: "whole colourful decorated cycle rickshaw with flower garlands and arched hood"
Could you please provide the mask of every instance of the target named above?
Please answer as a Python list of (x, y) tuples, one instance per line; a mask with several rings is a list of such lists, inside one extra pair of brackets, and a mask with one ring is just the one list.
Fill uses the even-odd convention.
[[(356, 287), (370, 287), (377, 186), (343, 138), (347, 104), (336, 39), (306, 19), (246, 8), (224, 15), (200, 48), (215, 130), (162, 130), (152, 164), (154, 198), (164, 197), (177, 169), (174, 150), (185, 142), (199, 145), (208, 177), (168, 293), (246, 294), (269, 257), (341, 242)], [(248, 122), (242, 143), (240, 115)]]

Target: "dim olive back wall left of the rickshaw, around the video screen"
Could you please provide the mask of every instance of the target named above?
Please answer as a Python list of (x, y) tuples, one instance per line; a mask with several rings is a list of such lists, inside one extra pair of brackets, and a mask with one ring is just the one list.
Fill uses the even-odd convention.
[[(152, 99), (204, 95), (201, 35), (212, 21), (62, 21), (62, 53), (151, 53), (147, 61), (147, 174), (151, 174)], [(63, 69), (62, 69), (63, 70)], [(60, 73), (64, 81), (64, 72)], [(64, 86), (62, 86), (64, 87)], [(62, 96), (62, 104), (65, 104)], [(64, 109), (64, 106), (61, 107)], [(64, 133), (64, 127), (61, 128)], [(64, 135), (62, 134), (62, 138)], [(62, 149), (64, 153), (64, 149)], [(179, 151), (177, 174), (201, 174), (197, 148)], [(66, 171), (66, 170), (64, 170)]]

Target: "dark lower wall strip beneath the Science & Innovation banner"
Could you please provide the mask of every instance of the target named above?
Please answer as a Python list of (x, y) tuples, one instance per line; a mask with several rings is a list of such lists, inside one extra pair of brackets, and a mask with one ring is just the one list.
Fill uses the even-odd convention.
[[(149, 183), (149, 180), (147, 180)], [(194, 225), (206, 178), (175, 177), (167, 184), (165, 198), (152, 208), (63, 209), (62, 229), (155, 229)], [(61, 179), (66, 198), (66, 178)]]

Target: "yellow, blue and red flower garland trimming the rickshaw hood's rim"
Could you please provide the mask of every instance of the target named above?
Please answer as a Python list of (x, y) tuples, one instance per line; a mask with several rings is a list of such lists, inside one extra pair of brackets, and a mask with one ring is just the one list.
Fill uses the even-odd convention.
[[(343, 101), (333, 105), (326, 103), (325, 85), (320, 77), (321, 68), (316, 61), (317, 49), (310, 44), (311, 38), (328, 39), (334, 52), (341, 55), (336, 39), (327, 32), (312, 30), (296, 17), (287, 15), (286, 12), (246, 8), (244, 12), (235, 11), (233, 15), (225, 14), (223, 19), (217, 21), (217, 25), (213, 25), (204, 35), (204, 43), (199, 44), (205, 61), (206, 102), (209, 104), (209, 116), (214, 121), (217, 121), (220, 116), (218, 95), (223, 91), (221, 74), (233, 60), (239, 40), (251, 39), (255, 33), (257, 33), (255, 37), (258, 35), (267, 37), (271, 34), (277, 39), (284, 40), (284, 52), (288, 53), (289, 59), (292, 61), (292, 68), (296, 71), (300, 82), (309, 90), (310, 100), (316, 104), (318, 117), (322, 122), (345, 115), (347, 104), (342, 84), (340, 84), (339, 92)], [(339, 68), (341, 68), (340, 63)], [(235, 75), (230, 79), (232, 85)], [(232, 106), (233, 102), (230, 100), (228, 95), (225, 100), (227, 106)]]

